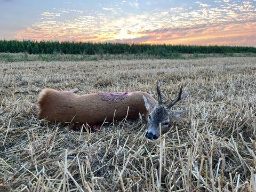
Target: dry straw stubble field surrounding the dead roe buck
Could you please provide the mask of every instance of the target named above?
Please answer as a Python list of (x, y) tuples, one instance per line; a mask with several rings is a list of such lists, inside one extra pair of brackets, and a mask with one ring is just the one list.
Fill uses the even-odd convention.
[[(45, 87), (156, 96), (158, 78), (165, 101), (189, 91), (158, 140), (140, 119), (93, 133), (36, 119)], [(0, 191), (255, 191), (255, 94), (256, 58), (0, 61)]]

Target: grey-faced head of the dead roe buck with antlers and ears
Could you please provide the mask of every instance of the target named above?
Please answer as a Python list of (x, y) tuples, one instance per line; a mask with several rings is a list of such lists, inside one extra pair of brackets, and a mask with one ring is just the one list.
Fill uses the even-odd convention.
[(168, 129), (169, 123), (177, 121), (186, 114), (186, 110), (171, 110), (171, 107), (183, 99), (187, 92), (182, 93), (182, 86), (180, 87), (179, 94), (177, 98), (169, 102), (166, 106), (163, 106), (162, 94), (160, 90), (161, 82), (157, 81), (157, 94), (158, 94), (158, 104), (146, 97), (143, 94), (143, 99), (145, 101), (145, 107), (149, 112), (147, 119), (147, 134), (148, 139), (157, 139), (159, 137), (159, 123), (161, 123), (161, 131), (164, 132)]

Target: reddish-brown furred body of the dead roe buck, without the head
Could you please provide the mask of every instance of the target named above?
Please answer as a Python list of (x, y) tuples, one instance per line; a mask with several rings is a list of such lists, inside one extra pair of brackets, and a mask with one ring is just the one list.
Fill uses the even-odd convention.
[(123, 100), (102, 100), (99, 93), (77, 95), (68, 91), (57, 91), (52, 89), (43, 90), (38, 97), (38, 119), (46, 118), (57, 122), (79, 122), (87, 124), (102, 123), (122, 120), (129, 113), (127, 119), (137, 119), (140, 114), (147, 117), (148, 111), (145, 107), (142, 94), (157, 101), (147, 92), (132, 92)]

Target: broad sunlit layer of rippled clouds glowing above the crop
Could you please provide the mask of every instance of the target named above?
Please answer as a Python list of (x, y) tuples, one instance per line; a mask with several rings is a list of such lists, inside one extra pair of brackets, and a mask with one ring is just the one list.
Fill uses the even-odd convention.
[[(137, 2), (132, 5), (138, 9), (139, 4), (134, 3)], [(15, 38), (172, 44), (233, 45), (235, 42), (256, 46), (253, 40), (256, 13), (252, 2), (227, 2), (221, 7), (197, 3), (200, 7), (196, 10), (172, 7), (140, 14), (124, 14), (122, 10), (119, 13), (111, 6), (101, 7), (103, 11), (98, 12), (68, 9), (43, 12), (42, 21), (17, 31)], [(111, 12), (105, 14), (106, 11)]]

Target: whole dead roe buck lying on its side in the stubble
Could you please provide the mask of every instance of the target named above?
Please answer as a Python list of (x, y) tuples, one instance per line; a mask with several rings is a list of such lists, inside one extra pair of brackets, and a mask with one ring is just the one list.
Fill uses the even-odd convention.
[[(137, 119), (139, 114), (145, 115), (148, 139), (159, 137), (161, 130), (166, 131), (169, 123), (177, 121), (186, 114), (186, 110), (170, 110), (178, 101), (186, 96), (180, 87), (177, 98), (163, 106), (161, 82), (157, 82), (158, 101), (147, 92), (125, 93), (91, 93), (75, 94), (78, 89), (70, 91), (43, 90), (38, 97), (38, 118), (47, 118), (57, 122), (79, 122), (98, 124), (104, 121), (121, 121)], [(129, 109), (128, 109), (129, 107)]]

